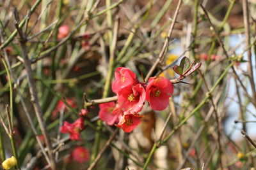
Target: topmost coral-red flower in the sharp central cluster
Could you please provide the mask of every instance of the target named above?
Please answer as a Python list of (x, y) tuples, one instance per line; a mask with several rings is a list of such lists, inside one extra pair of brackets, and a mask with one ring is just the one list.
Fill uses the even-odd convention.
[(138, 83), (136, 74), (125, 67), (116, 68), (115, 78), (116, 80), (112, 84), (112, 90), (116, 94), (118, 94), (118, 92), (121, 90), (124, 90), (127, 87), (129, 88), (132, 85), (136, 85), (136, 83)]

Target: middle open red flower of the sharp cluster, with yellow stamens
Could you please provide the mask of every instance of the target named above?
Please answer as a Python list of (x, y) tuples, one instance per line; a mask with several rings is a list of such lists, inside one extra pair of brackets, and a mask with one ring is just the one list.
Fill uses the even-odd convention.
[(117, 103), (122, 111), (139, 113), (145, 102), (146, 93), (144, 87), (138, 83), (130, 88), (123, 89), (118, 93)]

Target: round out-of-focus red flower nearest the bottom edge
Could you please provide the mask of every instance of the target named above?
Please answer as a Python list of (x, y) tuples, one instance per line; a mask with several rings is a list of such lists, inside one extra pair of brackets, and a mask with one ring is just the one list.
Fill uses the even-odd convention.
[(89, 153), (83, 146), (77, 146), (71, 153), (72, 159), (78, 163), (87, 162), (89, 160)]

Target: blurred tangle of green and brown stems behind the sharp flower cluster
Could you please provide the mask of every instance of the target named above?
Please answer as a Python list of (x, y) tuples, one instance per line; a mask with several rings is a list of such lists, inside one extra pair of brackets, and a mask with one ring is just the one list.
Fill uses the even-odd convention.
[[(254, 0), (0, 0), (1, 162), (16, 155), (13, 169), (54, 169), (42, 153), (47, 139), (31, 102), (26, 46), (58, 169), (254, 169), (255, 19)], [(88, 103), (115, 96), (116, 67), (143, 81), (164, 42), (151, 76), (179, 78), (172, 67), (184, 56), (201, 62), (201, 73), (173, 85), (166, 110), (146, 103), (131, 133), (102, 122), (99, 103)], [(60, 127), (81, 109), (81, 140), (70, 140)], [(164, 142), (154, 148), (164, 123)]]

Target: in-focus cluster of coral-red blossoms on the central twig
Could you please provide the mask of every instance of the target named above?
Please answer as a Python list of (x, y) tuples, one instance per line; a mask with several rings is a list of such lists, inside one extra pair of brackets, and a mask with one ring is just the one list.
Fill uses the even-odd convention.
[(115, 71), (112, 90), (116, 93), (117, 103), (100, 104), (99, 117), (108, 125), (115, 124), (125, 132), (131, 132), (140, 124), (140, 111), (145, 101), (153, 110), (164, 110), (173, 94), (173, 85), (164, 77), (151, 77), (148, 83), (140, 83), (136, 74), (125, 67)]

